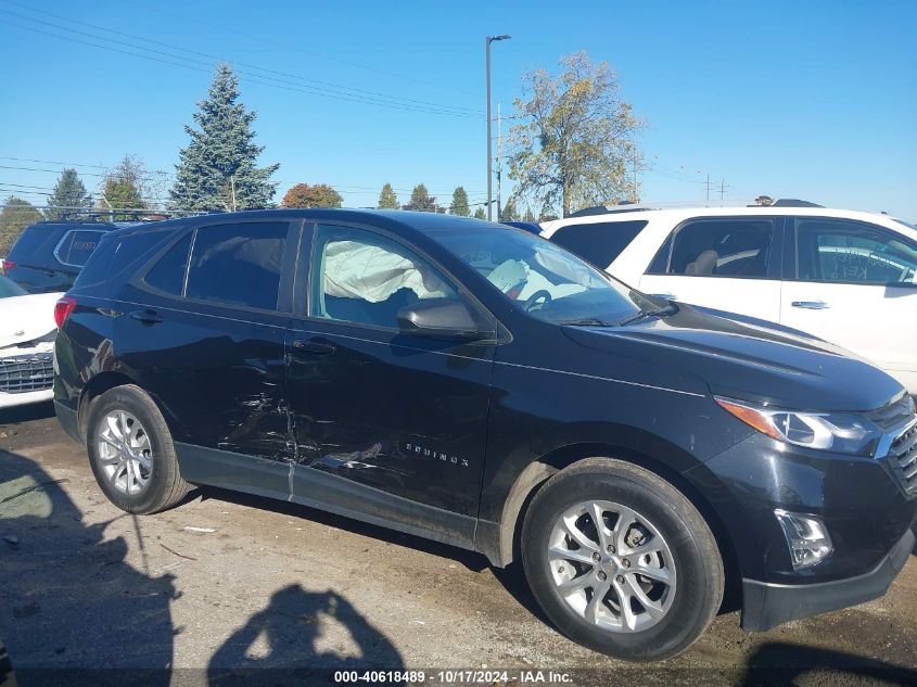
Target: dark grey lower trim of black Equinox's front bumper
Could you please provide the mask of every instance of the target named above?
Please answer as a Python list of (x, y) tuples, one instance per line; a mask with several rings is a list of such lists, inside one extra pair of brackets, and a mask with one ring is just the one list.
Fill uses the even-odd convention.
[(761, 632), (879, 598), (904, 568), (914, 542), (914, 533), (908, 530), (873, 571), (846, 580), (787, 585), (743, 578), (742, 629)]

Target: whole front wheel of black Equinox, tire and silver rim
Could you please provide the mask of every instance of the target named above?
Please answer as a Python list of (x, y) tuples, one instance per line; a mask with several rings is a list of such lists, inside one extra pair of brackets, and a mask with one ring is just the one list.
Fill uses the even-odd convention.
[(525, 575), (557, 627), (619, 659), (693, 644), (723, 599), (723, 562), (693, 505), (659, 475), (589, 458), (538, 491), (522, 530)]

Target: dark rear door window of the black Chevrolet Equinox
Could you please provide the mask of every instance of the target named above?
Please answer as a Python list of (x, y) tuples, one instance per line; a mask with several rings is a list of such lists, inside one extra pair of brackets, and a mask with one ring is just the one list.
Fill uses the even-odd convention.
[(195, 232), (186, 296), (275, 309), (288, 222), (202, 227)]

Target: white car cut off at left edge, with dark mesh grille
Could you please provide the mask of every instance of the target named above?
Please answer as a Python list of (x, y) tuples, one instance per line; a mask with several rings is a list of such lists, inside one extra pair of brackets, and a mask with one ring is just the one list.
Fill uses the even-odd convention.
[(54, 304), (0, 276), (0, 409), (49, 400), (54, 380)]

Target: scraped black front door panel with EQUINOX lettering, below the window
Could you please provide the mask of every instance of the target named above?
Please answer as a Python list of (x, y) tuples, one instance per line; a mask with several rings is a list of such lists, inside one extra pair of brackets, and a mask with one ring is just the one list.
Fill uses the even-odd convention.
[(286, 349), (297, 478), (476, 514), (493, 346), (302, 319)]

